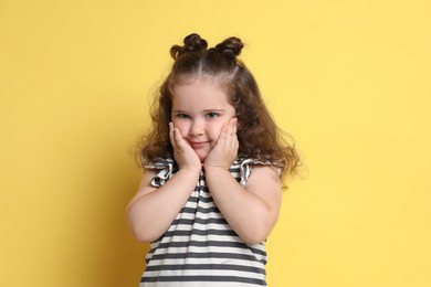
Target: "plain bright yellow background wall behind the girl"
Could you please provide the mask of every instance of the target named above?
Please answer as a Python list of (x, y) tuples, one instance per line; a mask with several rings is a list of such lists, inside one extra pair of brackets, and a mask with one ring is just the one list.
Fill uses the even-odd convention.
[(130, 156), (170, 45), (230, 35), (307, 170), (273, 287), (431, 286), (431, 4), (0, 0), (0, 286), (137, 286)]

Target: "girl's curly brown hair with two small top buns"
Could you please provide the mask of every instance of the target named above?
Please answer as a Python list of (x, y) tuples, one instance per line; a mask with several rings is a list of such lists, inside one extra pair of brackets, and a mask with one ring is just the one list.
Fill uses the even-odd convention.
[(175, 63), (151, 106), (153, 128), (137, 146), (137, 157), (143, 164), (174, 157), (168, 126), (171, 121), (172, 87), (204, 75), (218, 81), (235, 108), (239, 157), (270, 161), (274, 167), (282, 168), (283, 176), (296, 172), (299, 157), (294, 145), (286, 141), (287, 136), (276, 126), (265, 107), (256, 81), (236, 57), (243, 46), (240, 39), (229, 38), (207, 49), (206, 40), (190, 34), (185, 38), (182, 46), (174, 45), (170, 49)]

